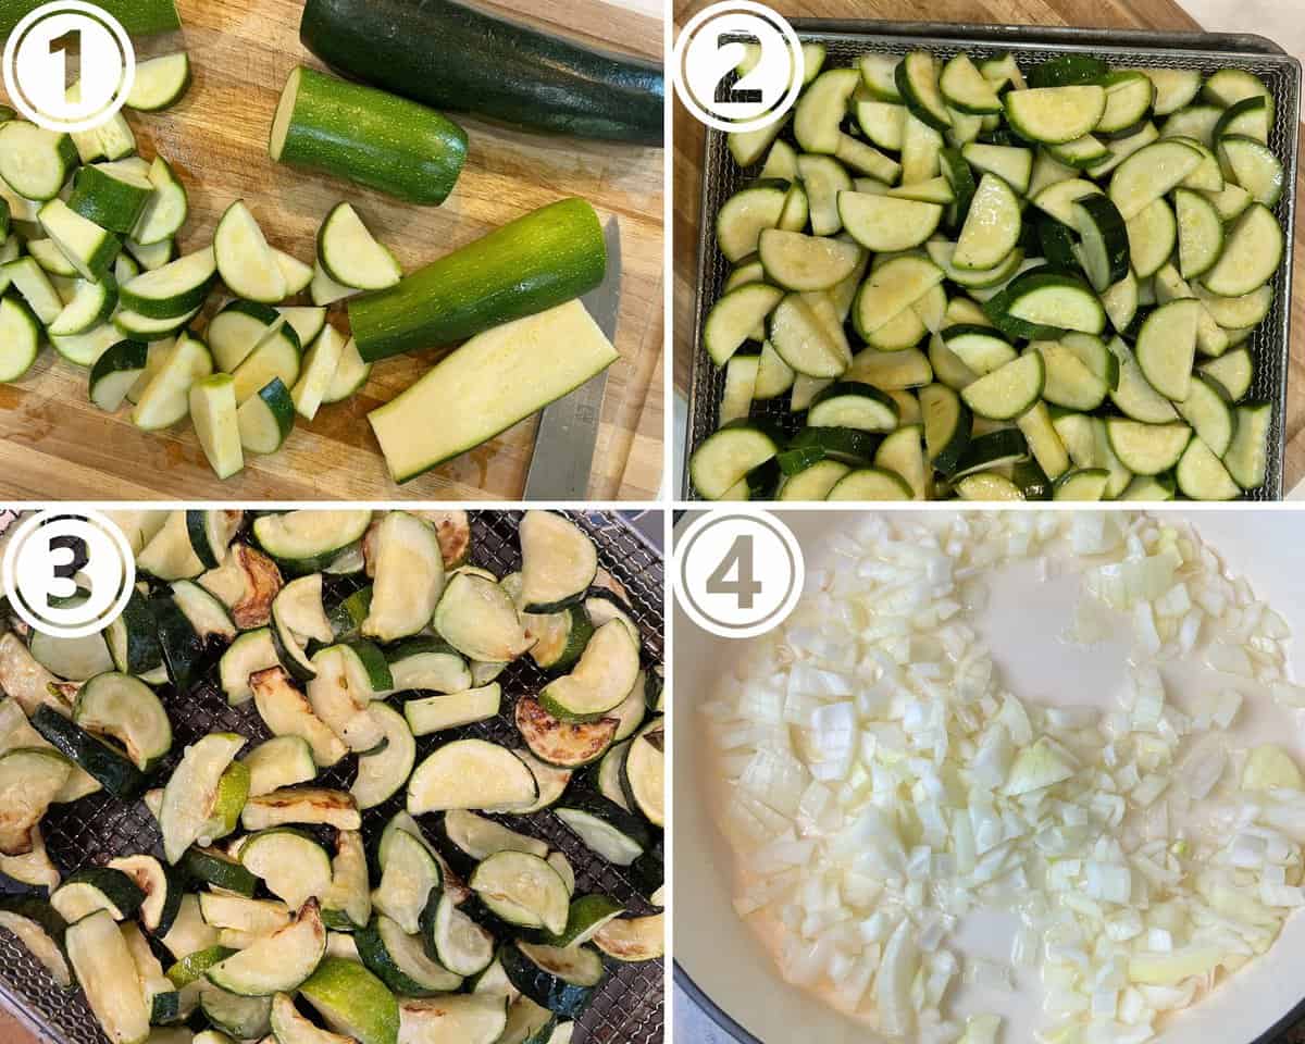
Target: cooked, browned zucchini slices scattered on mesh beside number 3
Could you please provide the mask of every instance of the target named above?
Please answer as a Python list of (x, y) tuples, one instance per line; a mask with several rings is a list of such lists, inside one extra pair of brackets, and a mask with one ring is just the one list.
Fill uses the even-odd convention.
[[(21, 894), (0, 932), (108, 1040), (560, 1043), (615, 967), (662, 958), (660, 668), (582, 525), (115, 521), (140, 585), (108, 630), (0, 617), (0, 882)], [(505, 529), (521, 568), (500, 576)], [(63, 837), (56, 806), (99, 791), (157, 834), (64, 877), (42, 821)], [(559, 844), (628, 895), (577, 890)]]

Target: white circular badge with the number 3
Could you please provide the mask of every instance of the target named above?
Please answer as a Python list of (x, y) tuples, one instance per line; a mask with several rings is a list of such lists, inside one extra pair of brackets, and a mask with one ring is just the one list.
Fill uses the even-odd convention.
[(23, 622), (55, 638), (85, 638), (123, 615), (136, 583), (136, 556), (99, 512), (39, 512), (9, 539), (0, 573)]

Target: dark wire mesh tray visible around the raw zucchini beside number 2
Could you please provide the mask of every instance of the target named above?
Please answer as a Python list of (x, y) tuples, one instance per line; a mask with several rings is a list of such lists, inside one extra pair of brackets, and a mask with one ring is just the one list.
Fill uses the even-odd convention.
[[(1268, 145), (1288, 172), (1287, 191), (1274, 209), (1287, 236), (1287, 252), (1272, 281), (1274, 304), (1268, 316), (1246, 342), (1255, 361), (1255, 380), (1249, 397), (1274, 403), (1268, 436), (1268, 474), (1265, 485), (1248, 500), (1282, 500), (1283, 455), (1287, 445), (1287, 372), (1291, 351), (1292, 231), (1296, 218), (1296, 164), (1300, 136), (1301, 65), (1272, 42), (1246, 34), (1150, 33), (1143, 30), (1041, 29), (1037, 26), (944, 25), (932, 22), (873, 22), (792, 20), (797, 35), (823, 43), (825, 68), (851, 65), (867, 54), (906, 55), (932, 51), (950, 57), (966, 51), (975, 59), (1000, 57), (1007, 51), (1021, 65), (1064, 54), (1088, 54), (1112, 65), (1199, 69), (1208, 76), (1237, 68), (1254, 73), (1272, 93), (1274, 125)], [(792, 129), (782, 134), (790, 142)], [(709, 129), (702, 164), (702, 211), (698, 219), (698, 290), (693, 317), (693, 373), (689, 385), (688, 453), (685, 453), (684, 499), (698, 496), (689, 480), (688, 462), (707, 436), (719, 427), (724, 369), (718, 369), (702, 350), (702, 326), (719, 299), (729, 262), (716, 248), (715, 215), (726, 200), (756, 177), (757, 167), (740, 168), (726, 144), (726, 134)], [(787, 408), (787, 398), (754, 402), (752, 415), (766, 418), (795, 435), (799, 415)]]

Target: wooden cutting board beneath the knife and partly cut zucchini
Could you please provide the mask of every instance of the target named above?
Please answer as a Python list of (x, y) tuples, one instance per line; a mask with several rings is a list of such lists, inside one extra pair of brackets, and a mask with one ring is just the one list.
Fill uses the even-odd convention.
[[(492, 7), (594, 44), (662, 54), (664, 21), (649, 0), (502, 0)], [(568, 196), (590, 200), (603, 221), (619, 218), (621, 360), (609, 371), (589, 495), (654, 497), (662, 483), (660, 403), (651, 411), (656, 423), (645, 420), (639, 431), (663, 365), (662, 150), (526, 134), (454, 116), (471, 140), (466, 171), (442, 207), (414, 207), (269, 159), (268, 129), (287, 76), (298, 64), (322, 68), (299, 42), (301, 0), (177, 0), (177, 8), (185, 25), (180, 37), (137, 43), (142, 56), (185, 47), (194, 84), (175, 110), (128, 119), (142, 154), (172, 161), (189, 191), (183, 251), (211, 241), (217, 219), (239, 198), (274, 245), (304, 261), (313, 258), (322, 218), (348, 200), (406, 271)], [(331, 320), (347, 329), (342, 307)], [(436, 358), (377, 364), (361, 394), (322, 408), (312, 424), (300, 419), (281, 453), (251, 455), (243, 474), (218, 482), (188, 423), (146, 433), (133, 428), (127, 410), (100, 412), (87, 399), (86, 372), (46, 350), (23, 381), (0, 385), (0, 500), (518, 499), (534, 419), (403, 487), (389, 479), (367, 412), (411, 385)], [(656, 448), (649, 452), (652, 438)]]

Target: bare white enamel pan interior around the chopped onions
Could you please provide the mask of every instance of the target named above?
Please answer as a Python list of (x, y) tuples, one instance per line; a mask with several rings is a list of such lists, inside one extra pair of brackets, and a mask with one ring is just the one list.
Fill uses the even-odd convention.
[[(797, 535), (808, 568), (825, 561), (833, 534), (856, 526), (863, 512), (776, 512)], [(906, 512), (920, 522), (938, 512)], [(1245, 576), (1257, 596), (1267, 600), (1295, 636), (1288, 656), (1291, 676), (1305, 679), (1305, 512), (1251, 509), (1174, 512), (1193, 522), (1235, 574)], [(684, 525), (694, 515), (681, 521)], [(1082, 650), (1057, 636), (1071, 620), (1074, 585), (1039, 585), (1032, 570), (1011, 576), (993, 590), (981, 634), (1013, 692), (1057, 702), (1109, 703), (1124, 669), (1121, 643), (1111, 655)], [(732, 853), (715, 826), (714, 801), (719, 775), (696, 705), (711, 697), (716, 680), (746, 655), (746, 641), (716, 638), (699, 630), (676, 606), (675, 611), (675, 958), (677, 974), (689, 980), (709, 1009), (718, 1009), (722, 1028), (741, 1041), (763, 1044), (880, 1044), (864, 1024), (826, 1006), (780, 979), (770, 954), (735, 915), (731, 904)], [(1169, 668), (1165, 668), (1167, 676)], [(1207, 676), (1208, 677), (1208, 676)], [(1206, 683), (1206, 688), (1212, 688)], [(1180, 701), (1181, 702), (1181, 701)], [(1267, 703), (1267, 698), (1263, 701)], [(1244, 705), (1232, 729), (1232, 743), (1272, 739), (1305, 763), (1302, 711)], [(981, 930), (981, 929), (980, 929)], [(967, 932), (967, 934), (970, 934)], [(992, 957), (1005, 959), (1005, 941), (993, 941)], [(988, 949), (988, 946), (984, 946)], [(1156, 1040), (1163, 1044), (1268, 1044), (1274, 1031), (1297, 1006), (1305, 1019), (1305, 912), (1292, 916), (1267, 954), (1223, 981), (1199, 1004), (1173, 1018)], [(1001, 1040), (1031, 1041), (1043, 1022), (1037, 1015), (1036, 971), (1022, 971), (1022, 989), (992, 1001), (957, 997), (959, 1014), (998, 1010), (1007, 1015)], [(1032, 985), (1034, 989), (1027, 987)], [(694, 989), (696, 988), (696, 989)], [(983, 1004), (976, 1004), (983, 1000)], [(1000, 1007), (997, 1006), (1000, 1004)], [(731, 1026), (731, 1022), (733, 1026)], [(690, 1041), (692, 1044), (692, 1041)], [(750, 1044), (750, 1041), (749, 1041)]]

